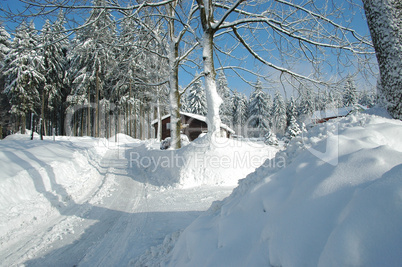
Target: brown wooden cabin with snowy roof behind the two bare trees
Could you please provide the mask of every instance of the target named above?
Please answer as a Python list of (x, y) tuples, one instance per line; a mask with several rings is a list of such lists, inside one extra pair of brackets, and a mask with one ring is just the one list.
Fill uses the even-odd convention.
[[(208, 131), (207, 118), (198, 114), (180, 112), (182, 133), (187, 135), (190, 141), (196, 139), (201, 133)], [(162, 120), (162, 140), (170, 137), (170, 114), (161, 118)], [(152, 121), (152, 127), (155, 129), (155, 136), (158, 133), (158, 120)], [(221, 124), (221, 131), (227, 138), (230, 138), (235, 132), (227, 125)]]

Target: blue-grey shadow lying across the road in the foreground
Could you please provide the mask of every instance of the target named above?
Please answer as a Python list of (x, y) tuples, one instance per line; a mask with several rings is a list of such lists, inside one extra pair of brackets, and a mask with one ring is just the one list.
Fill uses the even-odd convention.
[(128, 266), (150, 247), (162, 244), (167, 234), (184, 229), (200, 214), (197, 211), (127, 213), (92, 207), (86, 219), (97, 222), (86, 228), (79, 239), (28, 260), (24, 266)]

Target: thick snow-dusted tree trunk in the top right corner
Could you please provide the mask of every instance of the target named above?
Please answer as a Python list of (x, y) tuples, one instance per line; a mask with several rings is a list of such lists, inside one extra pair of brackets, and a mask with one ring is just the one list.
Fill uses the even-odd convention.
[(391, 116), (402, 120), (402, 2), (363, 0), (380, 69), (380, 96)]

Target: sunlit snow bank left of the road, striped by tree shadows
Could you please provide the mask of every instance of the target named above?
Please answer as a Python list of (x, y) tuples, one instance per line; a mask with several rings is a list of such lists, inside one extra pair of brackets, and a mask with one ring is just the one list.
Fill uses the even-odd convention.
[(105, 140), (11, 135), (0, 142), (0, 243), (99, 187)]

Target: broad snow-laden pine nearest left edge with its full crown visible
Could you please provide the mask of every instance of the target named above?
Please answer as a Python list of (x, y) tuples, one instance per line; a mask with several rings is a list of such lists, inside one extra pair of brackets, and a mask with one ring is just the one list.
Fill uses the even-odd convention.
[(45, 81), (42, 74), (42, 58), (37, 51), (37, 33), (33, 22), (22, 23), (16, 30), (11, 49), (6, 56), (7, 76), (4, 92), (11, 104), (11, 113), (20, 119), (21, 131), (25, 132), (28, 112), (35, 112), (40, 103), (39, 88)]

